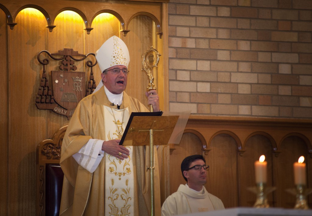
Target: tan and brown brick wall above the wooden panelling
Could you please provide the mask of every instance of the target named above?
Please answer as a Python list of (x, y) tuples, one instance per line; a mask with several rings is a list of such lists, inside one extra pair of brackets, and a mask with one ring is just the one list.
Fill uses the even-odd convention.
[(312, 0), (170, 0), (170, 111), (312, 118)]

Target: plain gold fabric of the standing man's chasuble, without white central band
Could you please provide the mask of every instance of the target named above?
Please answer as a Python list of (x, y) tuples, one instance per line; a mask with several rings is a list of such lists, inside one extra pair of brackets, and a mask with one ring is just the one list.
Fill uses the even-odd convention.
[[(129, 97), (124, 92), (124, 107), (129, 112), (149, 112), (137, 99)], [(105, 140), (104, 109), (110, 106), (102, 87), (99, 91), (83, 98), (71, 117), (67, 127), (61, 149), (60, 165), (64, 172), (60, 215), (104, 215), (105, 208), (105, 157), (102, 158), (94, 173), (90, 173), (78, 165), (72, 157), (89, 139)], [(112, 127), (115, 127), (112, 122)], [(161, 147), (155, 147), (154, 171), (154, 200), (155, 215), (160, 216), (160, 170), (158, 156), (161, 159)], [(150, 215), (149, 189), (149, 146), (133, 147), (134, 163), (134, 215)], [(161, 161), (159, 161), (161, 164)]]

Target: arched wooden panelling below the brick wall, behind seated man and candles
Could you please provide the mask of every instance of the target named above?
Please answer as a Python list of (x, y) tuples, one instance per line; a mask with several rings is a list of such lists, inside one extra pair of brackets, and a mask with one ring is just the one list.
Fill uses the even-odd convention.
[[(185, 184), (181, 162), (186, 156), (202, 154), (210, 166), (206, 189), (219, 197), (226, 208), (252, 207), (256, 194), (254, 162), (267, 161), (267, 186), (277, 189), (268, 195), (271, 207), (294, 208), (293, 163), (305, 157), (308, 187), (312, 186), (312, 122), (247, 118), (191, 116), (180, 144), (171, 145), (170, 194)], [(312, 195), (308, 196), (312, 206)]]

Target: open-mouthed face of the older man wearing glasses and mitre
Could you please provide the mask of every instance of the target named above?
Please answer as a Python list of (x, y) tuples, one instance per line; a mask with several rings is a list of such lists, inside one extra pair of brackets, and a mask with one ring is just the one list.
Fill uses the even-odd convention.
[(126, 89), (127, 86), (127, 74), (124, 74), (121, 70), (119, 73), (113, 73), (112, 70), (114, 68), (119, 69), (127, 69), (124, 65), (115, 65), (113, 67), (108, 68), (106, 73), (102, 73), (102, 81), (106, 88), (113, 94), (120, 94)]

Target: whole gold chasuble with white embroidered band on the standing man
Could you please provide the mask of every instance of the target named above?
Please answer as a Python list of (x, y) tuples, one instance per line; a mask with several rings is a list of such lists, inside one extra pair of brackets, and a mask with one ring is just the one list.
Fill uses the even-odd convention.
[[(116, 139), (118, 132), (126, 126), (131, 112), (149, 112), (137, 99), (129, 97), (125, 92), (123, 95), (124, 104), (120, 110), (111, 108), (104, 87), (83, 98), (78, 104), (61, 149), (60, 165), (64, 181), (60, 215), (150, 214), (150, 180), (149, 172), (146, 171), (149, 166), (149, 146), (127, 146), (130, 156), (122, 161), (104, 153), (93, 173), (80, 166), (72, 157), (90, 139)], [(161, 147), (154, 147), (155, 215), (160, 216), (157, 152), (161, 155)]]

